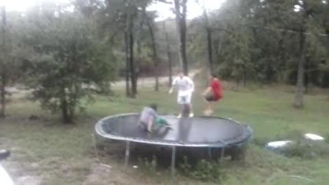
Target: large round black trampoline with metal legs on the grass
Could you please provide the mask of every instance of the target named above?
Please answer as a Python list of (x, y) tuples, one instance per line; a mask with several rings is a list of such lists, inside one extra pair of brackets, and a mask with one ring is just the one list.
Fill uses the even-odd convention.
[(247, 125), (232, 119), (211, 116), (178, 119), (176, 116), (162, 115), (172, 129), (148, 133), (138, 127), (139, 116), (140, 114), (134, 113), (108, 116), (95, 125), (95, 132), (98, 136), (109, 140), (125, 141), (125, 166), (127, 166), (130, 155), (130, 143), (171, 147), (171, 168), (173, 171), (176, 147), (220, 148), (222, 158), (225, 148), (241, 147), (252, 136), (252, 131)]

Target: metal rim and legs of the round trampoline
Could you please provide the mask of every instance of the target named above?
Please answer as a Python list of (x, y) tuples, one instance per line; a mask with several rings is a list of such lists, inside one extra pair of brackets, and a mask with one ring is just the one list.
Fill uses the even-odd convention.
[[(117, 114), (114, 116), (107, 116), (101, 120), (99, 120), (96, 125), (95, 125), (95, 132), (97, 133), (98, 136), (101, 136), (103, 138), (108, 138), (111, 140), (121, 140), (121, 141), (126, 141), (125, 144), (125, 164), (124, 167), (127, 168), (128, 163), (129, 163), (129, 157), (130, 157), (130, 143), (134, 142), (134, 143), (144, 143), (144, 144), (151, 144), (151, 145), (164, 145), (164, 146), (170, 146), (171, 147), (171, 176), (175, 177), (175, 156), (176, 156), (176, 147), (208, 147), (208, 148), (212, 148), (212, 147), (218, 147), (218, 148), (222, 148), (221, 149), (221, 156), (219, 158), (219, 160), (221, 161), (224, 157), (224, 152), (226, 147), (231, 147), (234, 145), (243, 145), (244, 143), (247, 143), (247, 140), (252, 136), (252, 130), (250, 127), (247, 127), (247, 130), (249, 132), (249, 135), (246, 137), (245, 140), (243, 140), (242, 142), (237, 142), (237, 143), (225, 143), (223, 141), (218, 141), (218, 143), (216, 144), (211, 144), (211, 145), (207, 145), (207, 144), (184, 144), (184, 143), (171, 143), (171, 142), (160, 142), (160, 141), (149, 141), (149, 140), (141, 140), (141, 139), (136, 139), (136, 138), (129, 138), (129, 137), (123, 137), (123, 136), (115, 136), (114, 134), (108, 134), (108, 133), (101, 133), (99, 132), (99, 127), (101, 127), (101, 124), (103, 123), (103, 121), (106, 121), (108, 119), (112, 119), (118, 116), (130, 116), (130, 115), (136, 115), (138, 113), (128, 113), (128, 114)], [(214, 118), (214, 119), (224, 119), (221, 117), (215, 117), (215, 116), (207, 116), (208, 118)], [(233, 119), (226, 119), (229, 121), (233, 121), (234, 123), (237, 123), (241, 126), (242, 125), (239, 121), (235, 121)]]

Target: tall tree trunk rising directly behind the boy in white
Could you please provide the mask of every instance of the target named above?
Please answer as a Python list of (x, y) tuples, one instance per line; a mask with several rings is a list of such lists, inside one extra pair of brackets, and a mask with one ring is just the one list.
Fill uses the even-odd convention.
[(178, 25), (180, 35), (180, 56), (182, 58), (184, 75), (188, 75), (188, 62), (186, 56), (186, 3), (187, 0), (182, 1), (182, 13), (180, 12), (180, 1), (175, 0), (175, 14), (176, 23)]

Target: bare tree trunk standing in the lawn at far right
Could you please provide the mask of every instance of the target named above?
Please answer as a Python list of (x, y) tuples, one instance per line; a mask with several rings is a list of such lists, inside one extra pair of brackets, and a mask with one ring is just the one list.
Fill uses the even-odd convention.
[(305, 60), (305, 35), (303, 34), (304, 29), (300, 32), (300, 61), (298, 62), (298, 71), (297, 71), (297, 85), (295, 93), (295, 102), (293, 106), (295, 108), (303, 108), (303, 97), (304, 97), (304, 60)]

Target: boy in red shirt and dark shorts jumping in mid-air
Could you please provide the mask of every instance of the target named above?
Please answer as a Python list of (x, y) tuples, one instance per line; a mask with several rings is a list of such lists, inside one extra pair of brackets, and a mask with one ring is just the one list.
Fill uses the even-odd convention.
[(218, 101), (223, 97), (222, 95), (222, 89), (221, 89), (221, 82), (219, 82), (219, 79), (214, 74), (210, 75), (210, 84), (208, 88), (204, 91), (202, 94), (204, 95), (204, 99), (206, 100), (207, 103), (207, 108), (204, 110), (205, 114), (212, 114), (212, 106), (211, 106), (211, 101)]

